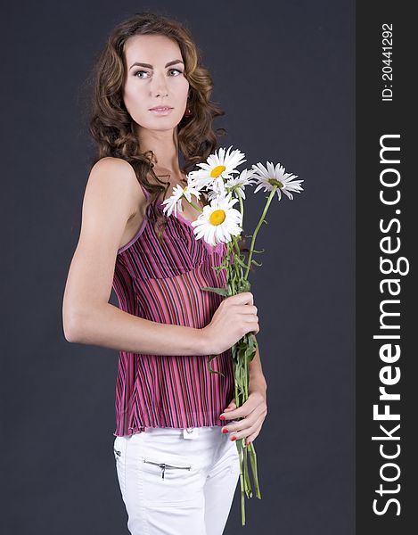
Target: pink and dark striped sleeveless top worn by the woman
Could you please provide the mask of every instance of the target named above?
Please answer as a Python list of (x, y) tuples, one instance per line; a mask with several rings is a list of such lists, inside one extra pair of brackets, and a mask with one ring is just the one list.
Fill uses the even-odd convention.
[[(212, 266), (221, 263), (226, 245), (196, 240), (191, 221), (178, 211), (168, 216), (161, 244), (148, 216), (162, 209), (161, 201), (150, 204), (141, 228), (118, 251), (113, 289), (119, 308), (158, 323), (204, 327), (224, 298), (201, 287), (225, 287), (225, 269), (217, 273)], [(113, 434), (223, 425), (219, 415), (234, 399), (231, 349), (210, 362), (224, 376), (209, 373), (207, 357), (119, 351)]]

